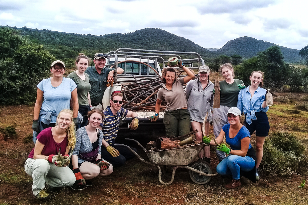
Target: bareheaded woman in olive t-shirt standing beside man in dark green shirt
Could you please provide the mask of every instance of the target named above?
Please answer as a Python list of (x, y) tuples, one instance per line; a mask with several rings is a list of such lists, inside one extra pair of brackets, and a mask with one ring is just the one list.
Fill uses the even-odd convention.
[(79, 104), (78, 112), (81, 117), (78, 117), (78, 124), (76, 124), (76, 128), (79, 129), (87, 125), (87, 113), (90, 111), (90, 107), (92, 107), (89, 93), (91, 89), (89, 75), (85, 73), (89, 65), (89, 58), (83, 53), (79, 53), (75, 64), (77, 70), (68, 74), (67, 78), (71, 78), (77, 85), (77, 96)]

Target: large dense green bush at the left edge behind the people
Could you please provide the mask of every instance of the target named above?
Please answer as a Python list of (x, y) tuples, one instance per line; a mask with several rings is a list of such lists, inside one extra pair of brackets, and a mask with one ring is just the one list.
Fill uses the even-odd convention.
[(7, 51), (0, 54), (0, 104), (33, 103), (36, 85), (48, 77), (55, 58), (43, 45), (27, 42), (8, 27), (0, 27), (0, 51)]

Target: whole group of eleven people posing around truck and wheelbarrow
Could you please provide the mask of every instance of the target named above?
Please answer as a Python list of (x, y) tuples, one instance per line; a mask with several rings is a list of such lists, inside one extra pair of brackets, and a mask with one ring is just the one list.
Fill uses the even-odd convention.
[[(134, 157), (128, 148), (115, 144), (115, 138), (121, 118), (132, 117), (129, 128), (135, 130), (139, 125), (138, 115), (122, 108), (122, 93), (112, 94), (110, 106), (102, 110), (107, 81), (113, 81), (114, 75), (114, 69), (105, 68), (106, 58), (106, 54), (96, 53), (94, 65), (88, 66), (89, 58), (83, 53), (79, 54), (77, 70), (67, 78), (63, 77), (65, 64), (54, 61), (50, 70), (52, 77), (37, 85), (32, 124), (35, 146), (26, 160), (25, 170), (33, 178), (32, 191), (39, 200), (49, 199), (48, 189), (55, 187), (70, 186), (74, 190), (82, 190), (91, 186), (91, 179), (111, 174), (113, 167), (121, 166)], [(187, 76), (176, 78), (173, 67), (180, 67)], [(117, 72), (121, 74), (123, 69), (118, 68)], [(164, 100), (167, 102), (164, 114), (167, 136), (185, 135), (192, 127), (199, 131), (196, 133), (198, 141), (216, 146), (207, 137), (209, 126), (213, 124), (214, 135), (220, 143), (217, 156), (221, 162), (217, 172), (221, 175), (232, 174), (233, 181), (226, 188), (237, 188), (241, 186), (240, 171), (250, 175), (254, 171), (252, 180), (258, 178), (258, 171), (255, 170), (261, 163), (263, 143), (269, 132), (265, 114), (268, 107), (262, 102), (266, 90), (261, 88), (263, 73), (260, 71), (251, 74), (248, 88), (241, 80), (234, 79), (231, 64), (222, 65), (220, 72), (225, 77), (224, 81), (220, 81), (220, 108), (213, 109), (214, 84), (209, 80), (209, 67), (200, 66), (199, 75), (193, 80), (195, 73), (173, 57), (163, 70), (164, 84), (157, 93), (156, 114), (150, 120), (157, 120)], [(186, 83), (184, 91), (183, 85)], [(201, 126), (206, 113), (209, 115), (205, 136), (202, 136)], [(247, 128), (242, 125), (242, 113), (245, 114)], [(250, 135), (254, 131), (257, 135), (257, 154), (250, 144)], [(231, 149), (221, 144), (224, 136)], [(209, 146), (205, 146), (199, 154), (200, 159), (210, 162), (209, 152)], [(226, 157), (225, 153), (229, 156)]]

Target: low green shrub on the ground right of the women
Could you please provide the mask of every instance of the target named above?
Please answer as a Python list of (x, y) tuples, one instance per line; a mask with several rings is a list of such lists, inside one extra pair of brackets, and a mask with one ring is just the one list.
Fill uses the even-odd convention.
[(304, 145), (288, 132), (274, 132), (265, 140), (262, 170), (270, 175), (291, 175), (307, 170), (301, 167), (307, 157)]

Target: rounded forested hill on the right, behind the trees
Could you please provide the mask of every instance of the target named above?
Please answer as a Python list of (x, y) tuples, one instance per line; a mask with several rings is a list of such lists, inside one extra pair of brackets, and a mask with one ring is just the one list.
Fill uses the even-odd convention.
[[(258, 52), (264, 51), (274, 45), (276, 44), (245, 36), (228, 41), (221, 49), (215, 51), (215, 53), (221, 53), (228, 56), (238, 54), (243, 58), (251, 58), (257, 56)], [(281, 49), (285, 62), (296, 63), (302, 61), (302, 57), (299, 55), (299, 50), (279, 45), (278, 47)]]

